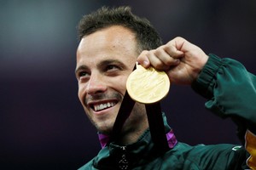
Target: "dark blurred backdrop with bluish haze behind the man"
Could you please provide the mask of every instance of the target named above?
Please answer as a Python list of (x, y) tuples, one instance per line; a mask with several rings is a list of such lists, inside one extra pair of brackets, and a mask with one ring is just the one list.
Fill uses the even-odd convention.
[[(100, 150), (74, 69), (76, 26), (103, 5), (130, 5), (164, 42), (185, 37), (256, 73), (254, 0), (0, 0), (0, 169), (77, 169)], [(206, 111), (205, 101), (172, 85), (162, 109), (177, 139), (240, 144), (233, 122)]]

